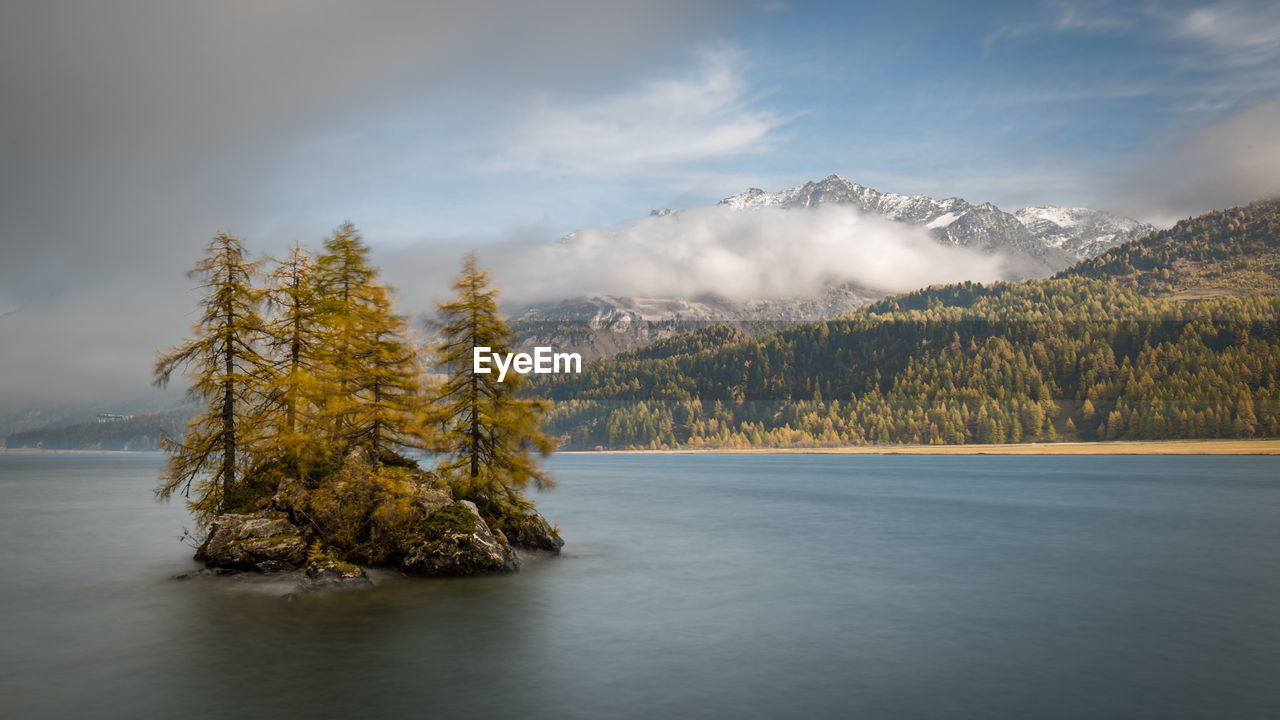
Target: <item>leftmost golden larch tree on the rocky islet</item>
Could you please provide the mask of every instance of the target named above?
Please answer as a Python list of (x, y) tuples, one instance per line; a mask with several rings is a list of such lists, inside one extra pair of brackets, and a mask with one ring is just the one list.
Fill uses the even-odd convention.
[(201, 281), (205, 292), (193, 336), (163, 354), (155, 365), (157, 386), (166, 386), (175, 370), (186, 369), (192, 377), (188, 395), (206, 401), (183, 439), (161, 439), (169, 459), (156, 489), (161, 500), (180, 491), (201, 523), (225, 509), (239, 468), (261, 434), (256, 409), (266, 361), (257, 347), (264, 322), (261, 295), (252, 284), (255, 273), (241, 238), (227, 233), (214, 237), (187, 273)]

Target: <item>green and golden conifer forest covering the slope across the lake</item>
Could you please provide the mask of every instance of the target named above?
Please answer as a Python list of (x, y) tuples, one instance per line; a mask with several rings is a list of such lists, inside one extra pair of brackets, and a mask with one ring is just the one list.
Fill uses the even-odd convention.
[(1280, 201), (1051, 279), (932, 287), (745, 338), (703, 328), (543, 377), (566, 448), (1280, 434)]

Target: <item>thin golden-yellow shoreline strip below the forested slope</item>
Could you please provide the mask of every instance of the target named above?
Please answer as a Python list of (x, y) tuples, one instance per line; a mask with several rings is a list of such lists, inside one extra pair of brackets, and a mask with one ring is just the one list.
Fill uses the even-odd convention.
[(1280, 439), (859, 445), (699, 450), (568, 450), (564, 455), (1280, 455)]

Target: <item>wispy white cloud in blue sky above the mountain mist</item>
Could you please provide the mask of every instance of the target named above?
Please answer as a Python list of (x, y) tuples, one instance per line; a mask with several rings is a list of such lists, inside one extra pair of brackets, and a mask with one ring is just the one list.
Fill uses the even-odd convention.
[(786, 119), (756, 106), (741, 67), (737, 50), (704, 51), (689, 77), (576, 104), (536, 99), (492, 169), (635, 174), (767, 150)]

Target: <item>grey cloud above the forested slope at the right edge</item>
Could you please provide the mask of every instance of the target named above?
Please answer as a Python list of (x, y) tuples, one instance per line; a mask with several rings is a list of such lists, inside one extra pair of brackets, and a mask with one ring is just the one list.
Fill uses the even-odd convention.
[(1158, 225), (1280, 196), (1280, 101), (1188, 132), (1123, 173), (1106, 200)]

